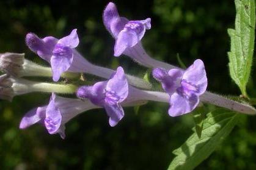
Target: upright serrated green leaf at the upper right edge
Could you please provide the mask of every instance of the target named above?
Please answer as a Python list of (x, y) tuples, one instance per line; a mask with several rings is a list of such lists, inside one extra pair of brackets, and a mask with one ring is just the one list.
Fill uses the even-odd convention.
[(255, 2), (254, 0), (235, 0), (235, 29), (228, 29), (231, 39), (229, 55), (230, 76), (241, 93), (247, 96), (246, 85), (249, 80), (254, 55)]

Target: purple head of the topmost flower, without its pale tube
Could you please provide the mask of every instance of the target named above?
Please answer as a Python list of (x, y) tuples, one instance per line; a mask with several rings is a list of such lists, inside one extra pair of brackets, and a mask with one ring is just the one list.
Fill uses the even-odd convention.
[(126, 49), (140, 43), (145, 30), (151, 28), (150, 21), (150, 18), (129, 21), (127, 18), (120, 17), (115, 4), (109, 2), (103, 12), (103, 23), (115, 38), (114, 56), (119, 57)]

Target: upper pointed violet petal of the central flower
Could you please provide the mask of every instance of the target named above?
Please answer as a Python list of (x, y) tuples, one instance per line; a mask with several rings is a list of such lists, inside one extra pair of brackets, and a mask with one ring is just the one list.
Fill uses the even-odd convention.
[(111, 105), (120, 103), (128, 96), (128, 81), (122, 67), (118, 67), (106, 85), (105, 102)]

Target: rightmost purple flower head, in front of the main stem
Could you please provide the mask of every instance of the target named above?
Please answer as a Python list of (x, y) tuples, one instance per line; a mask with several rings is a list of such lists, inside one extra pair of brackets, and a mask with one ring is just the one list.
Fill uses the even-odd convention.
[(202, 60), (196, 60), (185, 71), (155, 68), (152, 74), (170, 95), (170, 116), (179, 116), (194, 110), (199, 104), (199, 96), (207, 89), (207, 76)]

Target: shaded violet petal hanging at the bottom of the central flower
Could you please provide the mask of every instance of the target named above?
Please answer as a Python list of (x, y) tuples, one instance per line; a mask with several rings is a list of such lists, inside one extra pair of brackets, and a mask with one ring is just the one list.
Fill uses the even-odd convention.
[(104, 108), (109, 116), (109, 125), (114, 127), (123, 118), (125, 113), (123, 112), (122, 106), (115, 105), (104, 105)]

